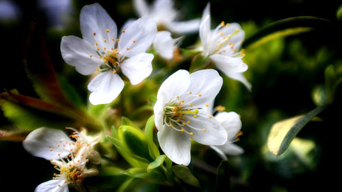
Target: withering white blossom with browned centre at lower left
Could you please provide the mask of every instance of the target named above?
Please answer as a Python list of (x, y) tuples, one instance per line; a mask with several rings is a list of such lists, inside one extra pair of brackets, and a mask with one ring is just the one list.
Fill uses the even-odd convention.
[(68, 191), (72, 184), (77, 191), (84, 191), (82, 181), (86, 177), (98, 174), (97, 169), (86, 167), (87, 163), (99, 164), (101, 157), (93, 146), (101, 140), (102, 134), (88, 136), (86, 129), (80, 133), (73, 128), (68, 137), (63, 131), (52, 128), (38, 128), (27, 135), (23, 146), (34, 156), (47, 159), (55, 165), (59, 174), (53, 179), (38, 185), (36, 192)]

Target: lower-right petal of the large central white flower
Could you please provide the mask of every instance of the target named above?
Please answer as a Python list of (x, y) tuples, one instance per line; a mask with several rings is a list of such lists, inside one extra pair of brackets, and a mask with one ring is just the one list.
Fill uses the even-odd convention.
[[(189, 121), (189, 125), (193, 126), (197, 129), (190, 128), (189, 126), (183, 126), (183, 128), (188, 131), (194, 133), (194, 135), (189, 135), (194, 141), (198, 143), (202, 143), (203, 145), (222, 145), (227, 141), (227, 133), (226, 130), (220, 125), (220, 123), (215, 120), (215, 118), (209, 118), (207, 113), (202, 113), (204, 111), (200, 110), (202, 115), (205, 117), (201, 117), (199, 114), (196, 118), (186, 118)], [(205, 131), (203, 131), (205, 128)], [(185, 133), (184, 133), (185, 134)]]

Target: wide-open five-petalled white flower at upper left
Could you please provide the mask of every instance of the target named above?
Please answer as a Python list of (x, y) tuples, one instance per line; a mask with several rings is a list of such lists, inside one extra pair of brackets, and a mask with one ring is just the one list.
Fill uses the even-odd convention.
[(101, 72), (88, 85), (93, 105), (109, 103), (120, 94), (124, 81), (119, 74), (124, 74), (132, 85), (150, 75), (153, 55), (145, 52), (157, 33), (153, 19), (135, 20), (118, 39), (114, 20), (98, 3), (84, 6), (79, 20), (83, 39), (64, 36), (61, 52), (64, 61), (75, 66), (77, 72)]

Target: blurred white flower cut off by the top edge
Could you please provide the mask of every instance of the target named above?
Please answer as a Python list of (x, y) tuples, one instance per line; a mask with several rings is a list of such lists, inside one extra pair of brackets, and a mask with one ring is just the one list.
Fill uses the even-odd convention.
[(149, 16), (155, 20), (158, 29), (168, 30), (173, 33), (193, 33), (198, 31), (199, 19), (176, 21), (179, 13), (173, 8), (172, 0), (155, 0), (148, 6), (145, 0), (134, 0), (134, 7), (139, 16)]

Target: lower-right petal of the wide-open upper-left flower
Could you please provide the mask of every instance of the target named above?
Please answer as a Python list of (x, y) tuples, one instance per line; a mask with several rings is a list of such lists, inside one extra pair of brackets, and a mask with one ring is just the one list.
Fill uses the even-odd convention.
[(128, 77), (132, 85), (137, 85), (150, 75), (153, 57), (150, 53), (140, 53), (122, 62), (122, 73)]

